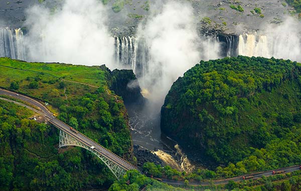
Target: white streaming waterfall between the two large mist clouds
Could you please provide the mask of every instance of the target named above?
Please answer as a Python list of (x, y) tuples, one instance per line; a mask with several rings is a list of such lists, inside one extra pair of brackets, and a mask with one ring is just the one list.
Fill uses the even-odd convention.
[(143, 38), (115, 37), (115, 61), (120, 68), (132, 69), (136, 76), (147, 70), (147, 47)]

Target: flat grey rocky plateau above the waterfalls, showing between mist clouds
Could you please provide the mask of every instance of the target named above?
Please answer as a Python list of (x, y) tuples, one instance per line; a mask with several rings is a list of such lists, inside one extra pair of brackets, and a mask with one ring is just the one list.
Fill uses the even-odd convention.
[[(152, 9), (156, 9), (155, 4), (158, 3), (158, 1), (149, 0), (132, 0), (130, 2), (125, 2), (123, 9), (118, 13), (114, 13), (112, 9), (108, 9), (107, 14), (110, 18), (109, 28), (112, 34), (134, 35), (140, 23), (139, 21), (142, 18), (148, 17), (152, 13)], [(196, 22), (201, 23), (199, 25), (201, 34), (233, 34), (242, 31), (252, 31), (259, 29), (260, 26), (266, 23), (279, 23), (294, 11), (285, 1), (277, 0), (182, 0), (182, 2), (192, 4)], [(114, 1), (109, 1), (105, 6), (107, 8), (112, 7), (113, 3)], [(48, 0), (42, 4), (34, 0), (18, 1), (17, 3), (10, 4), (5, 1), (0, 2), (0, 18), (2, 18), (2, 23), (0, 24), (11, 28), (28, 27), (24, 26), (26, 10), (33, 5), (46, 6), (52, 10), (56, 10), (62, 6), (62, 2), (54, 0)], [(243, 11), (230, 8), (232, 5), (235, 7), (241, 6)], [(146, 9), (146, 7), (148, 8)], [(262, 15), (256, 13), (254, 11), (255, 8), (259, 8)]]

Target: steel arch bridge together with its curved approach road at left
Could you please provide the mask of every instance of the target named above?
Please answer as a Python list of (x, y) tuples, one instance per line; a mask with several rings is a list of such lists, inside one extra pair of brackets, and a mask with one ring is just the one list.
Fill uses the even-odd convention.
[[(127, 170), (136, 169), (139, 171), (139, 169), (126, 161), (125, 159), (119, 157), (118, 155), (114, 154), (110, 150), (104, 148), (100, 144), (96, 143), (89, 137), (85, 136), (84, 134), (80, 133), (77, 130), (72, 131), (72, 127), (65, 124), (64, 122), (56, 119), (52, 113), (40, 102), (31, 99), (29, 97), (23, 96), (21, 94), (16, 94), (15, 92), (11, 92), (8, 90), (4, 90), (0, 88), (0, 94), (5, 94), (8, 96), (15, 97), (17, 99), (20, 99), (26, 103), (30, 103), (31, 105), (38, 107), (39, 109), (34, 109), (28, 105), (10, 100), (5, 98), (0, 98), (0, 100), (5, 100), (8, 102), (12, 102), (21, 106), (24, 106), (36, 113), (39, 113), (46, 117), (47, 121), (54, 125), (56, 128), (60, 130), (60, 142), (59, 142), (59, 148), (65, 147), (65, 146), (79, 146), (84, 149), (89, 150), (93, 154), (95, 154), (104, 164), (110, 169), (110, 171), (114, 174), (114, 176), (117, 179), (120, 179)], [(139, 171), (141, 172), (141, 171)]]

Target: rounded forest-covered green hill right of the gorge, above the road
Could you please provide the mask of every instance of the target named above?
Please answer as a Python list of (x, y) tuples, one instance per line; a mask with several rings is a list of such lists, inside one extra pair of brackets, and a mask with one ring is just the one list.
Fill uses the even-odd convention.
[(201, 61), (173, 84), (162, 107), (162, 131), (198, 150), (203, 161), (228, 164), (216, 169), (218, 176), (297, 164), (300, 69), (274, 58)]

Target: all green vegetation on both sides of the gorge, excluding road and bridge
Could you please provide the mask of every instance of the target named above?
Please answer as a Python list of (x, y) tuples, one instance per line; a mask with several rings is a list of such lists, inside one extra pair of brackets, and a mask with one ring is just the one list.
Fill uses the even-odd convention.
[[(203, 161), (212, 161), (205, 163), (208, 169), (192, 173), (146, 162), (141, 168), (145, 175), (130, 170), (117, 181), (91, 152), (59, 149), (59, 131), (43, 116), (0, 100), (1, 190), (299, 190), (299, 171), (225, 185), (213, 182), (301, 161), (300, 66), (239, 56), (201, 61), (179, 78), (162, 108), (162, 127), (176, 133), (183, 146), (204, 154)], [(126, 97), (131, 72), (0, 58), (0, 73), (1, 87), (49, 103), (57, 118), (135, 164), (122, 99), (140, 98), (139, 89)], [(173, 187), (162, 179), (184, 185)], [(194, 181), (212, 184), (193, 187)]]

